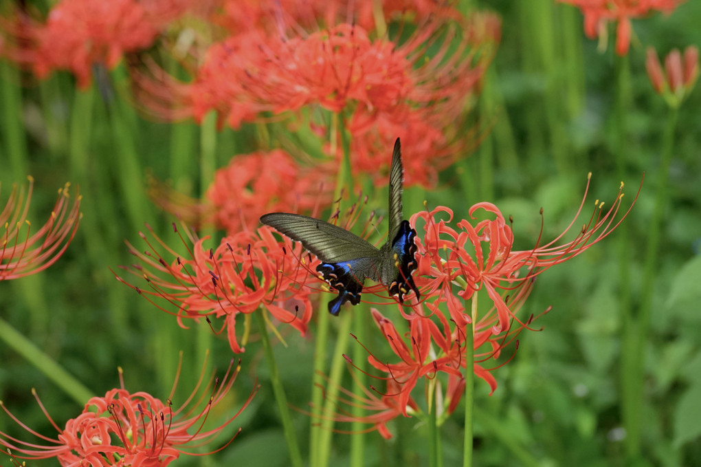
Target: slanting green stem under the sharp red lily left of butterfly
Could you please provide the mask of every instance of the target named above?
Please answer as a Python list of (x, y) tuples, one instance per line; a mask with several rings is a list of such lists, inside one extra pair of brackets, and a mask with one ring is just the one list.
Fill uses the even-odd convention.
[(287, 442), (287, 449), (290, 452), (290, 465), (293, 467), (302, 467), (304, 466), (304, 463), (302, 463), (302, 456), (299, 452), (299, 444), (297, 444), (297, 433), (294, 431), (294, 424), (292, 424), (290, 407), (287, 406), (287, 395), (285, 395), (283, 381), (280, 379), (278, 364), (275, 362), (275, 353), (273, 353), (273, 346), (271, 345), (270, 337), (268, 336), (266, 319), (263, 316), (263, 313), (264, 311), (259, 309), (253, 314), (256, 316), (258, 332), (261, 337), (261, 344), (263, 344), (268, 371), (270, 372), (270, 382), (273, 385), (275, 400), (278, 402), (278, 410), (280, 410), (280, 419), (283, 421), (285, 441)]

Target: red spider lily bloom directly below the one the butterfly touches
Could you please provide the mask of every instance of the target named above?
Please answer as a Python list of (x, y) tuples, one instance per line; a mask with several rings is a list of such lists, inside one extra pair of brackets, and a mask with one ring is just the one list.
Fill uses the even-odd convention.
[[(355, 396), (355, 400), (341, 398), (339, 402), (349, 406), (359, 404), (371, 414), (358, 418), (347, 412), (339, 412), (334, 415), (335, 421), (360, 421), (374, 424), (374, 428), (384, 438), (390, 438), (391, 435), (386, 428), (386, 423), (390, 419), (400, 415), (411, 417), (412, 414), (421, 412), (415, 401), (416, 395), (412, 394), (421, 379), (426, 381), (426, 384), (435, 385), (440, 392), (440, 397), (437, 399), (440, 403), (434, 406), (438, 411), (438, 417), (447, 417), (456, 410), (465, 390), (464, 372), (468, 365), (465, 347), (466, 323), (463, 321), (462, 325), (458, 325), (454, 320), (447, 319), (435, 303), (425, 302), (424, 304), (430, 309), (430, 315), (424, 316), (421, 305), (416, 305), (416, 313), (406, 320), (409, 326), (409, 332), (406, 334), (397, 330), (393, 322), (379, 311), (372, 310), (372, 317), (386, 339), (390, 351), (399, 360), (393, 363), (391, 360), (379, 358), (364, 346), (369, 352), (369, 364), (382, 374), (382, 376), (375, 374), (369, 376), (386, 382), (386, 390), (381, 393), (374, 386), (370, 386), (369, 389), (362, 388), (367, 398), (360, 396)], [(491, 371), (495, 368), (486, 368), (483, 363), (498, 358), (501, 348), (511, 344), (524, 327), (516, 326), (495, 335), (491, 332), (490, 326), (479, 326), (473, 344), (476, 352), (472, 369), (477, 377), (489, 384), (491, 392), (496, 389), (496, 379), (491, 375)], [(348, 357), (346, 360), (353, 365)], [(496, 365), (496, 367), (500, 366)], [(445, 388), (444, 392), (442, 388)], [(343, 393), (350, 395), (346, 390), (343, 390)], [(433, 394), (432, 391), (421, 391), (421, 393)], [(428, 405), (432, 403), (433, 401), (427, 400)]]

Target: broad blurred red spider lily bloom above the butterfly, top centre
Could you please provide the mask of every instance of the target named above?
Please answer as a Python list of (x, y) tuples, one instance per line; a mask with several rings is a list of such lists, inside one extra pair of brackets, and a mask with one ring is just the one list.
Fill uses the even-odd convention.
[[(178, 83), (154, 65), (151, 78), (136, 74), (135, 81), (144, 96), (152, 95), (143, 104), (156, 116), (200, 120), (216, 110), (220, 121), (226, 119), (233, 128), (264, 111), (282, 116), (308, 105), (352, 111), (349, 128), (354, 134), (371, 128), (383, 114), (401, 121), (407, 110), (402, 104), (430, 108), (431, 115), (449, 121), (463, 111), (493, 55), (493, 50), (477, 55), (475, 38), (493, 38), (494, 31), (476, 34), (469, 22), (444, 24), (422, 23), (401, 45), (372, 41), (365, 29), (347, 23), (290, 37), (254, 29), (210, 47), (191, 84)], [(470, 32), (460, 37), (460, 27)], [(426, 50), (435, 46), (427, 57)]]

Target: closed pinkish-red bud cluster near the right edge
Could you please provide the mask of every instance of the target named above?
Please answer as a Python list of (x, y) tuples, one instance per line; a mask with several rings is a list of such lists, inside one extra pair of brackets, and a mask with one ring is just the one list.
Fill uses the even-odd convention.
[(669, 52), (665, 57), (665, 76), (657, 52), (649, 47), (645, 67), (655, 91), (665, 97), (669, 105), (679, 107), (696, 83), (699, 74), (699, 49), (688, 46), (684, 50), (683, 60), (678, 49)]

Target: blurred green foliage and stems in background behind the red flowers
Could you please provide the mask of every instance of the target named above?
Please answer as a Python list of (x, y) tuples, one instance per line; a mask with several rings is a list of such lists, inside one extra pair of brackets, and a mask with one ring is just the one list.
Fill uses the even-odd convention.
[[(492, 114), (483, 114), (494, 119), (491, 135), (459, 170), (442, 174), (439, 189), (407, 190), (404, 210), (420, 210), (426, 197), (429, 205), (448, 205), (465, 216), (467, 206), (491, 201), (514, 217), (517, 247), (527, 249), (538, 237), (540, 207), (545, 212), (544, 238), (557, 236), (569, 223), (587, 172), (593, 176), (585, 212), (595, 198), (613, 201), (621, 181), (615, 166), (615, 57), (611, 47), (601, 52), (597, 41), (585, 38), (580, 13), (569, 6), (550, 0), (491, 1), (482, 6), (503, 17), (502, 43), (479, 104), (483, 111), (491, 109)], [(622, 180), (627, 205), (646, 174), (637, 205), (625, 221), (634, 309), (639, 306), (662, 130), (669, 115), (646, 75), (644, 46), (655, 46), (660, 55), (674, 47), (698, 46), (700, 21), (701, 2), (695, 0), (669, 17), (634, 21), (629, 157)], [(33, 224), (46, 218), (55, 189), (66, 181), (79, 185), (84, 213), (74, 242), (54, 266), (36, 276), (0, 283), (0, 317), (95, 395), (118, 385), (116, 368), (121, 366), (128, 389), (165, 398), (180, 350), (185, 355), (179, 384), (183, 394), (195, 384), (195, 377), (188, 375), (198, 374), (203, 348), (212, 348), (210, 363), (224, 370), (231, 358), (226, 341), (212, 338), (205, 325), (181, 330), (170, 316), (114, 280), (108, 268), (132, 262), (124, 239), (144, 248), (137, 235), (143, 222), (177, 245), (170, 231), (172, 218), (158, 212), (145, 194), (147, 172), (161, 180), (174, 172), (192, 174), (173, 182), (197, 194), (211, 179), (211, 174), (198, 172), (201, 158), (222, 167), (233, 154), (257, 149), (264, 130), (246, 126), (236, 133), (217, 132), (211, 121), (201, 127), (146, 121), (128, 102), (123, 69), (109, 75), (112, 91), (107, 95), (95, 87), (76, 92), (67, 74), (21, 87), (15, 69), (6, 62), (0, 69), (0, 205), (11, 184), (31, 174), (36, 179)], [(700, 108), (697, 89), (681, 107), (674, 136), (671, 201), (662, 226), (651, 334), (644, 346), (644, 403), (639, 407), (643, 454), (636, 461), (641, 466), (701, 462)], [(176, 163), (181, 164), (177, 169)], [(526, 313), (537, 314), (550, 305), (552, 312), (537, 322), (543, 332), (521, 334), (515, 358), (495, 372), (499, 387), (494, 395), (487, 395), (486, 385), (478, 383), (475, 465), (518, 466), (528, 459), (543, 466), (625, 465), (619, 235), (615, 232), (582, 257), (538, 278)], [(275, 348), (290, 403), (301, 409), (310, 398), (313, 338), (313, 328), (307, 338), (286, 334), (287, 346)], [(258, 343), (250, 343), (242, 357), (243, 374), (228, 408), (238, 409), (255, 381), (261, 384), (252, 405), (228, 432), (243, 426), (243, 433), (215, 456), (182, 458), (177, 465), (288, 464)], [(0, 400), (28, 426), (51, 435), (53, 428), (34, 402), (31, 388), (59, 426), (75, 417), (84, 402), (73, 400), (57, 381), (0, 343)], [(461, 459), (459, 414), (460, 410), (442, 426), (446, 465)], [(305, 447), (310, 421), (295, 414), (294, 423)], [(367, 465), (425, 465), (426, 426), (416, 419), (398, 419), (390, 428), (395, 437), (388, 442), (371, 435)], [(27, 436), (7, 417), (0, 417), (0, 431)], [(332, 463), (347, 465), (348, 438), (335, 435), (334, 443)]]

